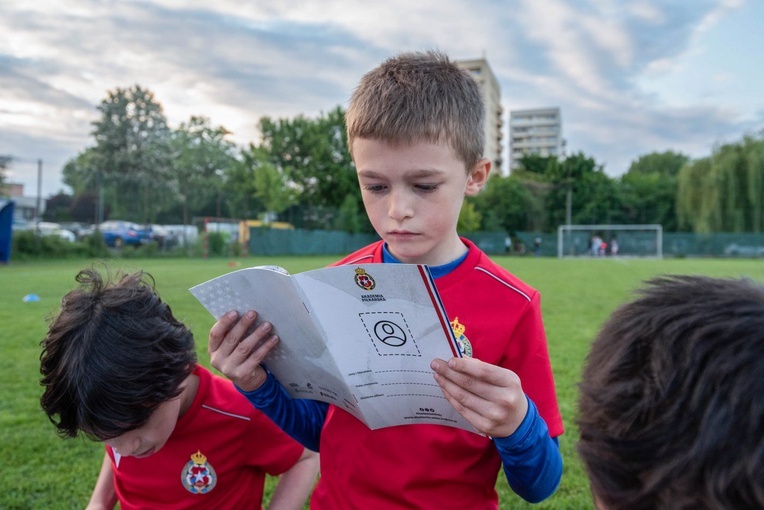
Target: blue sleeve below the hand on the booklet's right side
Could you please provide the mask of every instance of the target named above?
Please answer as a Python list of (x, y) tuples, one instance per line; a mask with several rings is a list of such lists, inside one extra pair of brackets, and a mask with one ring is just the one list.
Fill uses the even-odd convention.
[(493, 441), (507, 482), (518, 496), (538, 503), (554, 494), (562, 478), (562, 455), (557, 438), (549, 437), (549, 429), (531, 399), (517, 430)]

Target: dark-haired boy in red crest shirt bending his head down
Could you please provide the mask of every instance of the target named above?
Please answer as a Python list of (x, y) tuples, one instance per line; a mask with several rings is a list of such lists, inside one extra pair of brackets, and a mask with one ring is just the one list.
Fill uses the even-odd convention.
[(76, 279), (42, 341), (40, 403), (60, 435), (106, 445), (87, 508), (257, 509), (266, 473), (280, 475), (269, 508), (302, 508), (318, 454), (196, 363), (150, 275)]

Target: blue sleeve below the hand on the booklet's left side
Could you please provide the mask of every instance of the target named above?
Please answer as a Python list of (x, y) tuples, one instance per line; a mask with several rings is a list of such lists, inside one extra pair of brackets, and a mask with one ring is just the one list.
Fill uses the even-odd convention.
[(238, 387), (236, 389), (298, 443), (309, 450), (318, 451), (321, 429), (326, 421), (329, 404), (317, 400), (292, 398), (270, 372), (258, 389), (254, 391), (242, 391)]

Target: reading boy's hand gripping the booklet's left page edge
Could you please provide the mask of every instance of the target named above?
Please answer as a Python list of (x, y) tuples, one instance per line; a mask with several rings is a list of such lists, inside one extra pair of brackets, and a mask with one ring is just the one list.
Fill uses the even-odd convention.
[(268, 322), (247, 334), (257, 314), (245, 313), (240, 319), (235, 311), (228, 312), (210, 330), (209, 353), (212, 366), (220, 370), (243, 391), (253, 391), (265, 382), (263, 359), (278, 342)]

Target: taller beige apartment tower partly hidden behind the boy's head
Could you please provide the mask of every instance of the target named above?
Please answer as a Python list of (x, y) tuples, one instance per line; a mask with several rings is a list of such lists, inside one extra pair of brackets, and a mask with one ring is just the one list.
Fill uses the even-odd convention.
[(504, 121), (504, 109), (501, 107), (501, 90), (499, 82), (491, 71), (488, 61), (484, 58), (475, 60), (457, 60), (464, 69), (467, 69), (477, 80), (483, 93), (485, 104), (485, 152), (483, 157), (493, 162), (493, 171), (502, 173), (502, 137)]

